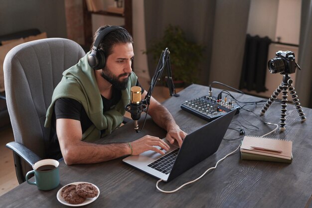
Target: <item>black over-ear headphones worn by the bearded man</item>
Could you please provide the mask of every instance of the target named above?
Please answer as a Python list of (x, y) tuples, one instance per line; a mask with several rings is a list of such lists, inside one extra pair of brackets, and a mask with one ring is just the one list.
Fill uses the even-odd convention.
[(106, 59), (104, 55), (104, 51), (98, 49), (101, 40), (104, 39), (105, 35), (108, 33), (117, 30), (117, 29), (124, 29), (119, 26), (109, 26), (103, 29), (100, 34), (97, 36), (94, 45), (92, 47), (91, 53), (88, 55), (88, 63), (89, 65), (96, 70), (103, 69), (105, 67)]

